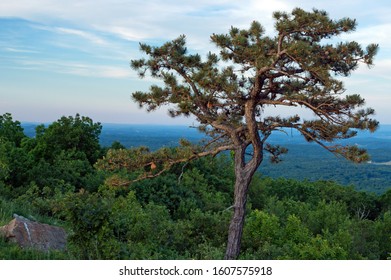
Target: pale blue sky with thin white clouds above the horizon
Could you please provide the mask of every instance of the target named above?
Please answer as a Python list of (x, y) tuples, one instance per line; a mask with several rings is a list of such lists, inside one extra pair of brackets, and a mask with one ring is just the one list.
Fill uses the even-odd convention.
[(13, 0), (0, 1), (0, 114), (19, 121), (52, 122), (79, 113), (95, 122), (189, 124), (167, 108), (147, 113), (133, 103), (134, 91), (153, 81), (129, 63), (142, 57), (139, 43), (161, 45), (185, 34), (191, 52), (216, 51), (213, 33), (259, 21), (273, 35), (272, 13), (322, 9), (333, 19), (354, 18), (357, 30), (337, 38), (363, 46), (378, 43), (371, 69), (344, 78), (391, 124), (391, 2), (389, 0)]

